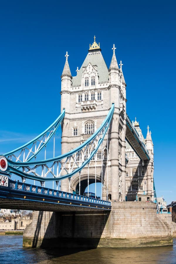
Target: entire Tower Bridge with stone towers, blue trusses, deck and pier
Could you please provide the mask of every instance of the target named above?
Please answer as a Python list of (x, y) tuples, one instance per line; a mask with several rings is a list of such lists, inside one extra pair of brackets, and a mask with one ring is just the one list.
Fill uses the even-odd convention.
[[(1, 208), (39, 211), (33, 213), (33, 222), (25, 230), (24, 246), (46, 246), (48, 241), (55, 241), (55, 246), (68, 246), (70, 241), (72, 246), (79, 241), (79, 246), (86, 247), (141, 246), (147, 245), (147, 236), (151, 245), (172, 243), (172, 231), (156, 214), (157, 203), (151, 202), (156, 197), (151, 132), (148, 127), (144, 138), (139, 122), (131, 122), (126, 114), (123, 64), (117, 63), (115, 45), (112, 50), (108, 69), (94, 37), (75, 77), (66, 52), (60, 116), (36, 138), (0, 157)], [(55, 133), (60, 125), (62, 151), (55, 156)], [(46, 159), (51, 138), (53, 156)], [(38, 160), (42, 151), (45, 159)], [(11, 180), (12, 174), (21, 181)], [(50, 181), (56, 188), (45, 187)], [(96, 198), (98, 182), (101, 199)], [(92, 183), (94, 198), (89, 196)], [(86, 187), (88, 197), (83, 195)]]

